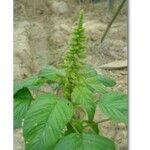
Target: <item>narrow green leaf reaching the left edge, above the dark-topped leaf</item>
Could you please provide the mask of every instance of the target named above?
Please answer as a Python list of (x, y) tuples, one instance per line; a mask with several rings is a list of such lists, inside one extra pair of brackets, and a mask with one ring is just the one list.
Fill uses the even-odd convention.
[(14, 84), (14, 94), (22, 88), (37, 88), (44, 84), (46, 80), (42, 77), (32, 76)]

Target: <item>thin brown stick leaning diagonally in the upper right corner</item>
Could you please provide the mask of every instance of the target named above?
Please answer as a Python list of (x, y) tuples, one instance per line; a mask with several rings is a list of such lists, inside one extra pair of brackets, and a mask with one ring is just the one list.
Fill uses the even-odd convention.
[(120, 13), (121, 9), (123, 8), (125, 2), (126, 2), (126, 0), (123, 0), (123, 1), (122, 1), (122, 3), (120, 4), (120, 6), (118, 7), (116, 13), (114, 14), (112, 20), (111, 20), (110, 23), (108, 24), (108, 26), (107, 26), (107, 28), (106, 28), (106, 30), (105, 30), (105, 32), (104, 32), (102, 38), (101, 38), (101, 43), (104, 41), (105, 36), (107, 35), (107, 33), (108, 33), (108, 31), (109, 31), (111, 25), (113, 24), (113, 22), (115, 21), (116, 17), (118, 16), (118, 14)]

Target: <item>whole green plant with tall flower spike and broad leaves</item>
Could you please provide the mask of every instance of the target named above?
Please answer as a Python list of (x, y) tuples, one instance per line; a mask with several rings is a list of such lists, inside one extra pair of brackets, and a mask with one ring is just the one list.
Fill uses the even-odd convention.
[[(127, 123), (127, 96), (109, 92), (116, 82), (84, 63), (85, 45), (81, 11), (62, 67), (46, 66), (15, 83), (14, 128), (23, 128), (26, 150), (115, 150), (94, 121), (96, 106), (109, 119)], [(34, 95), (33, 100), (30, 92), (45, 83), (56, 87), (57, 95)]]

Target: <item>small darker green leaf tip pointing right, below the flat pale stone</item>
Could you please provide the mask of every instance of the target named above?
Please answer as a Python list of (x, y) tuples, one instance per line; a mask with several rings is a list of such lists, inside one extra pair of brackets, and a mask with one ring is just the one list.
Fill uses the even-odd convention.
[(110, 78), (108, 75), (98, 74), (98, 79), (106, 87), (112, 87), (116, 85), (116, 81)]

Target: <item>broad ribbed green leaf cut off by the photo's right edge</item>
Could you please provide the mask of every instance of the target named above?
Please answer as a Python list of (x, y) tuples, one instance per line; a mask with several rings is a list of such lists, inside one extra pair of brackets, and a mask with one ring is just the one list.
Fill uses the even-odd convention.
[(98, 102), (100, 110), (111, 119), (127, 123), (128, 104), (127, 95), (120, 92), (111, 92), (100, 97)]

